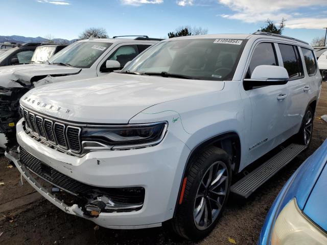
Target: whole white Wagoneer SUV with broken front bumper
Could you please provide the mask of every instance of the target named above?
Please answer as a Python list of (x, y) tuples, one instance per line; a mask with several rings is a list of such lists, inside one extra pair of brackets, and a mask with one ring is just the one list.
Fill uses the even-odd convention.
[[(120, 73), (29, 91), (19, 153), (6, 156), (69, 214), (113, 229), (171, 220), (197, 240), (230, 192), (248, 197), (308, 147), (320, 88), (306, 42), (260, 32), (172, 38)], [(79, 201), (61, 201), (34, 175)]]

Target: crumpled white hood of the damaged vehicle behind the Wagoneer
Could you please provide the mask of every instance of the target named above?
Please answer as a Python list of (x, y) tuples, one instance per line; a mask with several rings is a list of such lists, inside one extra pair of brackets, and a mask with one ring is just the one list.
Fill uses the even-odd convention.
[(48, 75), (68, 76), (80, 71), (81, 68), (46, 64), (4, 66), (0, 68), (0, 87), (26, 87)]

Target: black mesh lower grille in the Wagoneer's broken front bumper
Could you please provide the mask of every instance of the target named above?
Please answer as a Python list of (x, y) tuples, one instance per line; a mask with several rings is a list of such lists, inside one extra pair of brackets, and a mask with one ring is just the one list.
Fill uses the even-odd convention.
[(104, 188), (87, 185), (46, 165), (23, 148), (20, 148), (19, 156), (20, 162), (33, 171), (33, 173), (51, 184), (73, 194), (85, 197), (105, 194), (117, 204), (139, 204), (144, 202), (145, 189), (143, 187)]

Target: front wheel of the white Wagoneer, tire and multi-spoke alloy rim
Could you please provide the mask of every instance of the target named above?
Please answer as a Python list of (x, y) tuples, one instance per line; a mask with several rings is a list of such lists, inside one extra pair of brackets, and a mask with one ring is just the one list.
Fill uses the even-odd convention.
[[(178, 205), (172, 219), (173, 230), (179, 236), (189, 240), (200, 240), (214, 229), (228, 199), (231, 183), (230, 165), (228, 154), (215, 146), (209, 146), (191, 162), (182, 203)], [(216, 178), (208, 181), (210, 176)], [(207, 216), (205, 223), (205, 210), (209, 208), (213, 208), (212, 221), (210, 222)]]

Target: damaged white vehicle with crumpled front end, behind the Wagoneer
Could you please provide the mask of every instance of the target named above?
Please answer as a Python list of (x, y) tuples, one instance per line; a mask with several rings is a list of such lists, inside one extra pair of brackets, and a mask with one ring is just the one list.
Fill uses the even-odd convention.
[(77, 41), (43, 64), (0, 68), (0, 149), (15, 147), (20, 97), (33, 87), (95, 78), (121, 69), (160, 39), (147, 36)]

